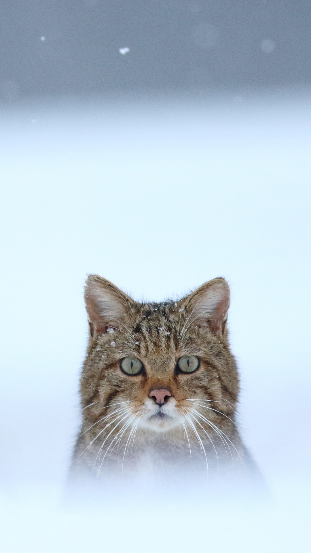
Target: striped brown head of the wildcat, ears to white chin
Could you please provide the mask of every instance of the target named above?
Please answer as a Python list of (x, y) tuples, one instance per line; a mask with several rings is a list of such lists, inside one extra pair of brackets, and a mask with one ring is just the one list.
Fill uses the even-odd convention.
[(112, 406), (121, 426), (129, 421), (163, 432), (182, 429), (190, 411), (204, 406), (214, 411), (211, 420), (232, 414), (239, 384), (227, 342), (230, 291), (223, 278), (179, 301), (155, 304), (136, 302), (91, 275), (85, 302), (90, 342), (81, 395), (83, 408), (94, 405), (87, 409), (94, 421)]

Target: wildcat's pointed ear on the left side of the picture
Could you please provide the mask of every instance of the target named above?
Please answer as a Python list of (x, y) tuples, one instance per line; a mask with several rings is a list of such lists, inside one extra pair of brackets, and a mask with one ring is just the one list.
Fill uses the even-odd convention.
[(129, 296), (99, 275), (87, 278), (84, 299), (92, 337), (109, 327), (122, 328), (126, 311), (133, 305)]

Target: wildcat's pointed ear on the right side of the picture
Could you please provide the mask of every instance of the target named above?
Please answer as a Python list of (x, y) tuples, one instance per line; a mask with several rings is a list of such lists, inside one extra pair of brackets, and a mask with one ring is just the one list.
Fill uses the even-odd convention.
[(187, 300), (187, 310), (195, 326), (209, 325), (214, 334), (224, 334), (230, 305), (230, 289), (225, 279), (215, 278), (206, 282)]

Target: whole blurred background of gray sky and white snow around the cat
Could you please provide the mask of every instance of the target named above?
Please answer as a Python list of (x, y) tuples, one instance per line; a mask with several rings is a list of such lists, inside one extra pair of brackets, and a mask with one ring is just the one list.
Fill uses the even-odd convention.
[[(305, 2), (2, 0), (5, 551), (155, 551), (157, 528), (173, 550), (307, 550), (310, 23)], [(89, 273), (137, 300), (229, 281), (267, 504), (64, 507)]]

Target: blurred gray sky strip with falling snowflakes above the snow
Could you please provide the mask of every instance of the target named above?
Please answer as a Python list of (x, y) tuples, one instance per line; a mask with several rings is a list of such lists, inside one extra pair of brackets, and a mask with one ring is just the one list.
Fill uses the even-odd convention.
[(0, 97), (306, 84), (310, 26), (302, 0), (2, 0)]

